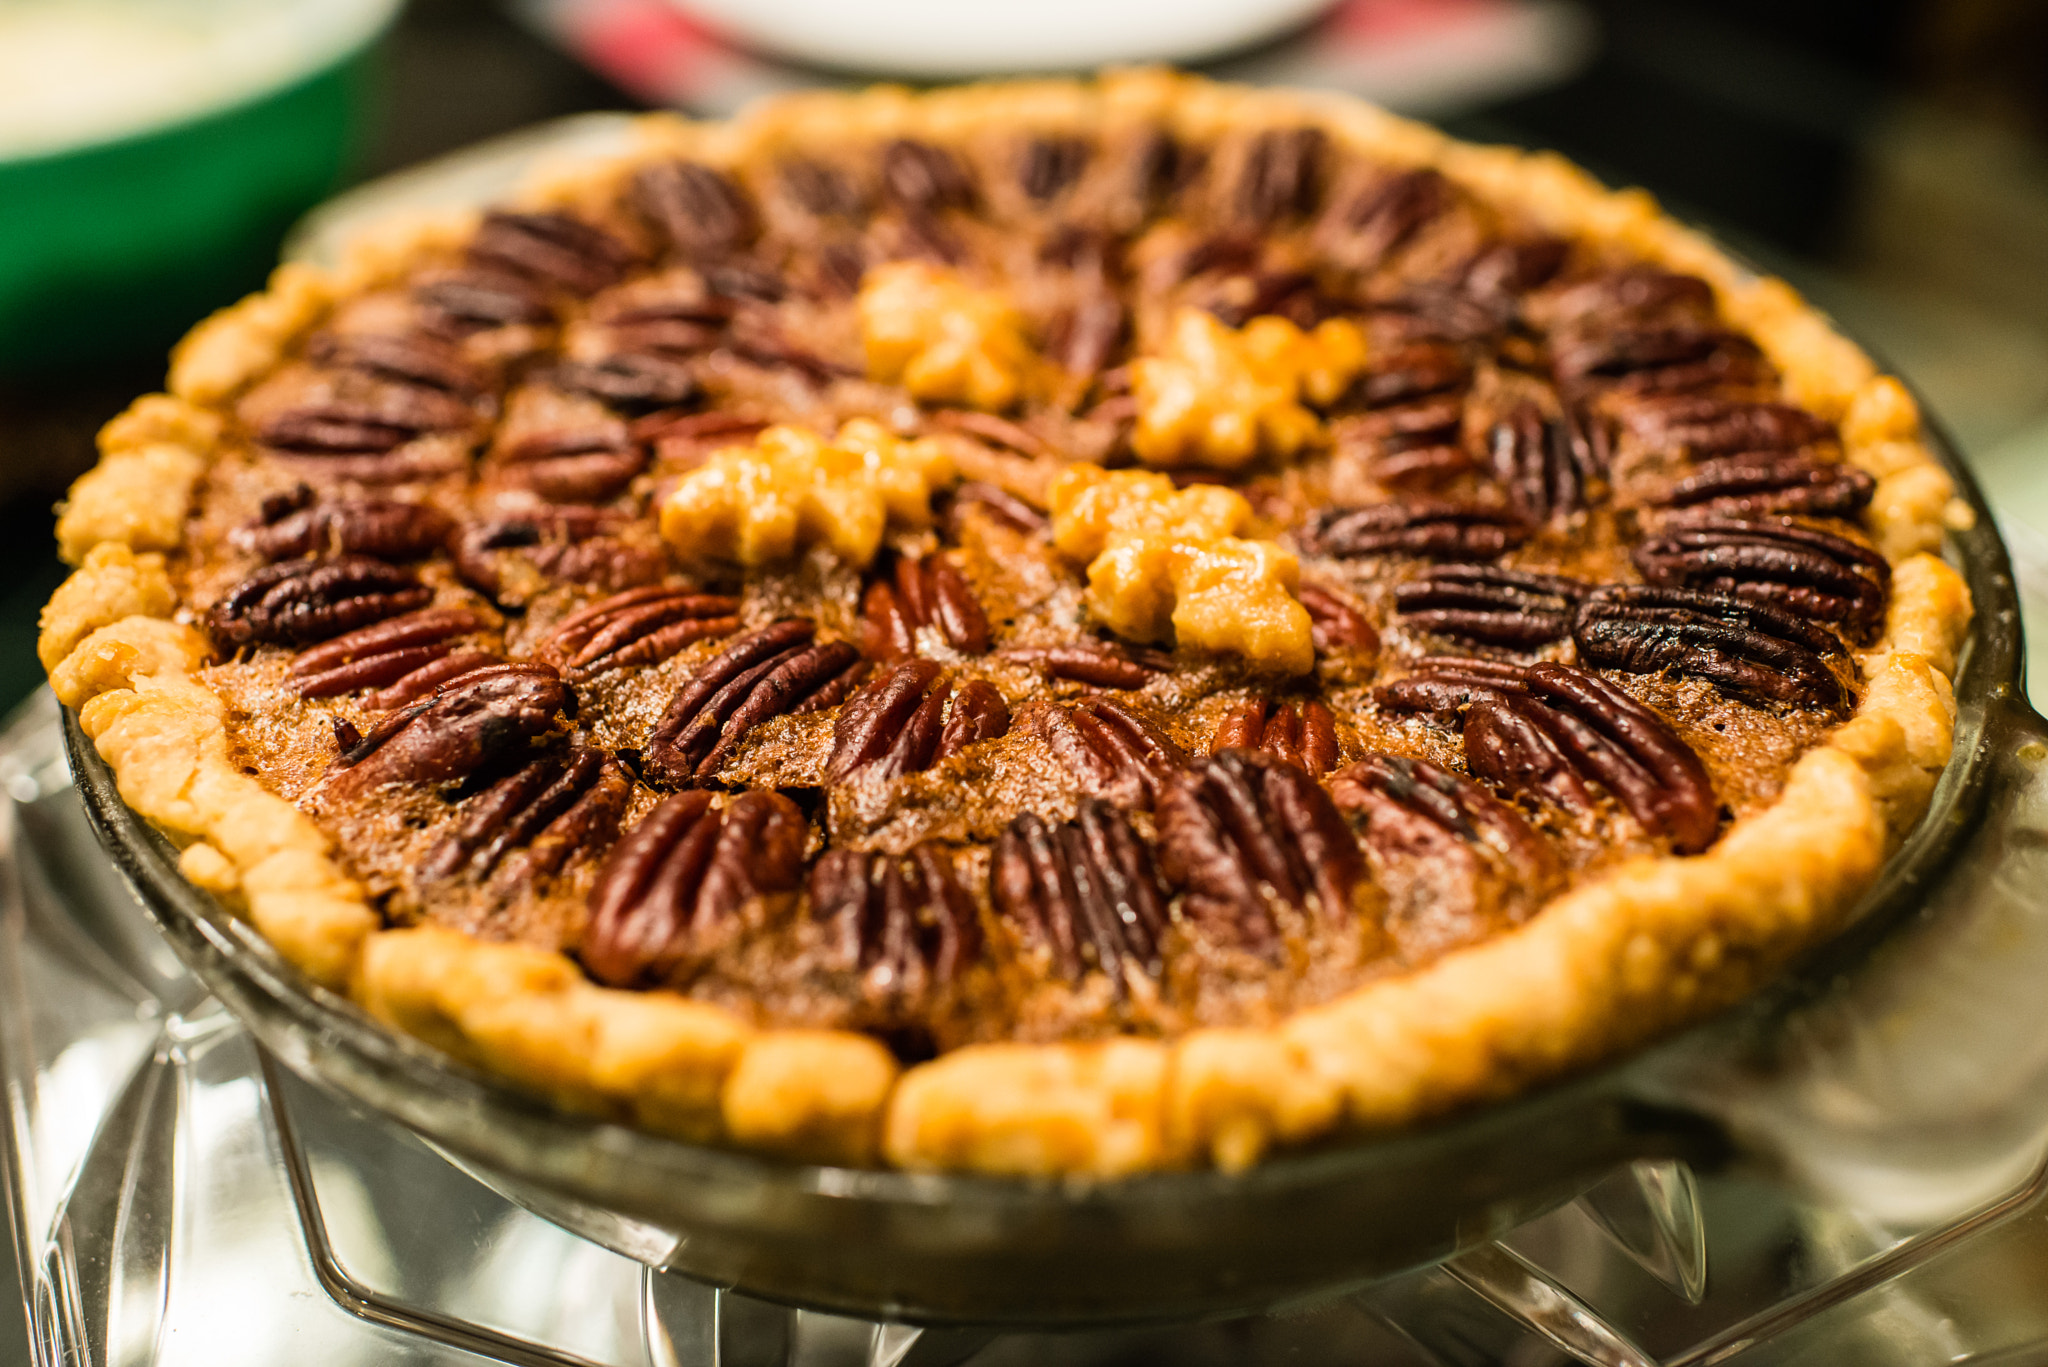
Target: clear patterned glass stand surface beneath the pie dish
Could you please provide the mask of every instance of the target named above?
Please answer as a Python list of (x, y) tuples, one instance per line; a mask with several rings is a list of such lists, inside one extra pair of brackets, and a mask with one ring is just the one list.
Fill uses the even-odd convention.
[[(0, 1076), (33, 1349), (68, 1367), (2048, 1361), (2044, 807), (2017, 793), (1995, 859), (1944, 883), (1929, 918), (1960, 904), (1960, 924), (1905, 933), (1915, 988), (1880, 965), (1862, 1019), (1817, 1019), (1806, 1072), (1749, 1099), (1769, 1146), (1632, 1164), (1497, 1244), (1274, 1314), (920, 1330), (688, 1281), (662, 1271), (672, 1246), (600, 1248), (285, 1072), (119, 881), (39, 695), (0, 734)], [(1970, 1144), (1929, 1117), (1968, 1119)]]

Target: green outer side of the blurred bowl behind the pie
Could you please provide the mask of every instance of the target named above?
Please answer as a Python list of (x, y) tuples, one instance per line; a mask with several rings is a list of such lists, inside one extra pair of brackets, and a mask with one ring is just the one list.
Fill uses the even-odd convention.
[(231, 107), (0, 160), (0, 373), (162, 350), (258, 287), (362, 143), (381, 33)]

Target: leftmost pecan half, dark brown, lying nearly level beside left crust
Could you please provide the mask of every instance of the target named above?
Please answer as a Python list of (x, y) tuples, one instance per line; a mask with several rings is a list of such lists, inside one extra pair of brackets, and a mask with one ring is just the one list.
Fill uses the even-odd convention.
[(227, 650), (258, 641), (309, 646), (432, 603), (410, 570), (365, 555), (264, 566), (207, 609), (207, 631)]

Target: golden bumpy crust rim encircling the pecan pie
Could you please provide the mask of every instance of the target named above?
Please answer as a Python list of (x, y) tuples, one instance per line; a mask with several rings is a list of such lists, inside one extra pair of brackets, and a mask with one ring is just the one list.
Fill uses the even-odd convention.
[(1520, 928), (1358, 988), (1270, 1031), (1171, 1043), (979, 1045), (901, 1076), (836, 1031), (756, 1031), (674, 994), (590, 984), (563, 955), (440, 928), (379, 928), (328, 838), (227, 760), (223, 705), (197, 678), (207, 644), (176, 611), (156, 551), (176, 549), (215, 437), (201, 406), (272, 367), (334, 299), (461, 240), (471, 215), (399, 225), (340, 271), (283, 266), (176, 350), (170, 396), (102, 432), (102, 461), (59, 523), (78, 572), (45, 609), (57, 697), (139, 814), (186, 844), (182, 867), (315, 982), (373, 1017), (563, 1105), (696, 1142), (834, 1162), (1114, 1176), (1380, 1129), (1507, 1094), (1735, 1000), (1829, 935), (1925, 812), (1954, 732), (1950, 672), (1968, 625), (1960, 576), (1929, 551), (1968, 510), (1927, 453), (1898, 381), (1782, 281), (1757, 279), (1640, 191), (1606, 191), (1548, 154), (1473, 148), (1356, 100), (1212, 86), (1159, 72), (1094, 86), (1016, 82), (913, 96), (805, 94), (733, 125), (651, 117), (616, 164), (537, 182), (596, 203), (633, 166), (688, 152), (733, 162), (807, 139), (1163, 119), (1184, 133), (1311, 119), (1393, 164), (1430, 164), (1495, 205), (1714, 285), (1786, 391), (1841, 424), (1876, 480), (1866, 529), (1894, 564), (1882, 641), (1860, 656), (1855, 715), (1788, 775), (1778, 801), (1700, 857), (1642, 859), (1579, 885)]

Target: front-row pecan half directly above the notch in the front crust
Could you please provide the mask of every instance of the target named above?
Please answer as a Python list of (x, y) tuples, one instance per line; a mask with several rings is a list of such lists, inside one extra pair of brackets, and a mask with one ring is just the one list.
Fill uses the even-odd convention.
[(809, 894), (827, 965), (858, 974), (862, 998), (891, 1014), (958, 982), (981, 957), (981, 912), (936, 844), (903, 859), (825, 851), (811, 865)]

